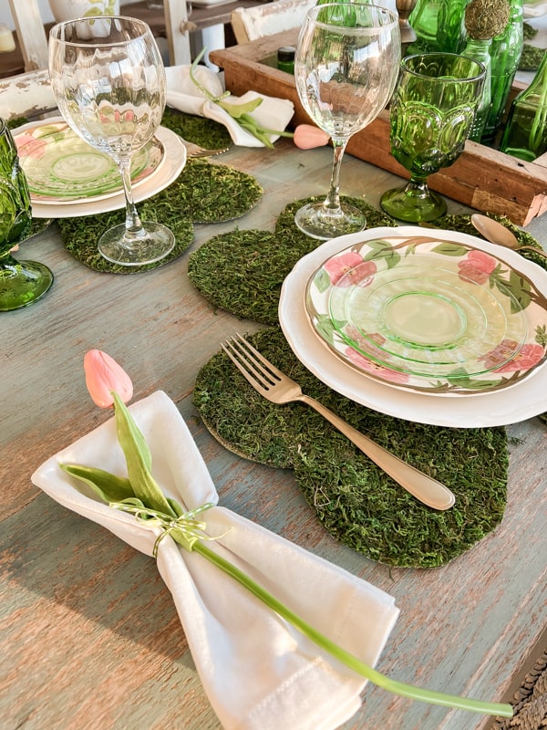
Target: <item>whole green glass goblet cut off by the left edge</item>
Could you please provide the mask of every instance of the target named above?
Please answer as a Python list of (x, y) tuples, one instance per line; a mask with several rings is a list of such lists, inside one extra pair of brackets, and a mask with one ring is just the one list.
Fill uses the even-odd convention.
[(29, 234), (30, 193), (14, 138), (0, 119), (0, 312), (27, 307), (43, 297), (53, 274), (36, 261), (17, 261), (13, 249)]

